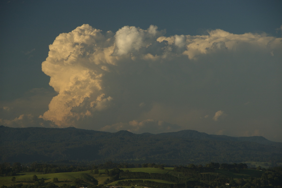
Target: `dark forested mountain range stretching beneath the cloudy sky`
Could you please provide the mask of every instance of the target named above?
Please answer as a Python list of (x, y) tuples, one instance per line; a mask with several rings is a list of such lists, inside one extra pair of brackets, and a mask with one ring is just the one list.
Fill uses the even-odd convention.
[(282, 162), (280, 142), (264, 137), (208, 135), (193, 130), (134, 134), (0, 126), (0, 151), (0, 162), (22, 163), (51, 160), (166, 164)]

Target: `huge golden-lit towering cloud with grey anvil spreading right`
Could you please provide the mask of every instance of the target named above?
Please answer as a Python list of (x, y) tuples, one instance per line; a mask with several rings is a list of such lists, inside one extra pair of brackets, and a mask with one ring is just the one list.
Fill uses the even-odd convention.
[[(251, 132), (265, 126), (257, 122), (281, 123), (281, 38), (221, 29), (164, 34), (154, 25), (113, 33), (87, 24), (60, 34), (42, 63), (58, 95), (41, 118), (59, 127), (137, 133), (233, 132), (223, 124)], [(217, 109), (228, 116), (219, 118)]]

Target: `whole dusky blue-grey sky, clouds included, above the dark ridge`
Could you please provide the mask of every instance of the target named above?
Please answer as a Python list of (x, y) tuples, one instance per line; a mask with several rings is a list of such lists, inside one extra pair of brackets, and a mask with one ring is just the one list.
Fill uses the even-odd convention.
[(0, 124), (282, 142), (282, 1), (1, 1)]

